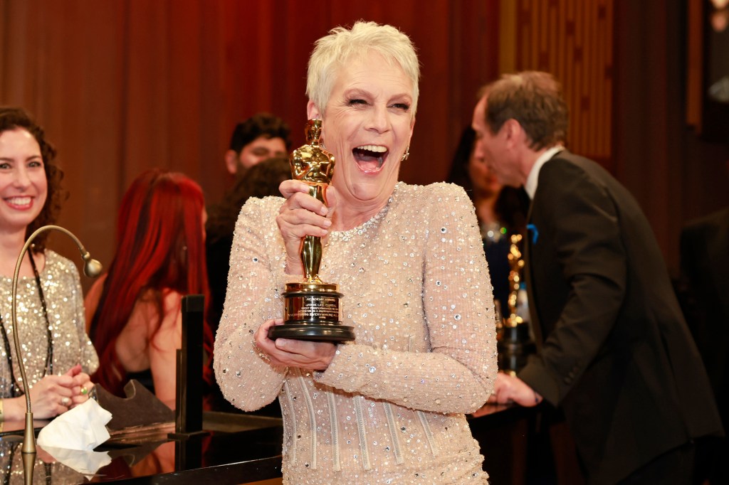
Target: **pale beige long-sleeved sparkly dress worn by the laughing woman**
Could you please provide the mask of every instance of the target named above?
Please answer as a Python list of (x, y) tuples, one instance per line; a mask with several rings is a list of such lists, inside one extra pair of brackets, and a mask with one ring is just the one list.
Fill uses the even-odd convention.
[(491, 283), (473, 206), (451, 184), (395, 186), (377, 216), (324, 243), (319, 275), (344, 293), (326, 371), (274, 367), (254, 346), (281, 318), (287, 281), (279, 197), (246, 202), (235, 228), (215, 371), (250, 411), (277, 396), (285, 484), (486, 483), (464, 413), (496, 376)]

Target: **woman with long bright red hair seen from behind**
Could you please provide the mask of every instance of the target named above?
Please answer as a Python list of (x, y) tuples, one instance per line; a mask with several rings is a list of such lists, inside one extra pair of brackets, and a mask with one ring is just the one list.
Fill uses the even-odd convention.
[[(174, 409), (182, 296), (208, 301), (205, 218), (202, 189), (181, 173), (148, 170), (124, 195), (114, 261), (85, 301), (101, 364), (93, 379), (109, 392), (138, 379)], [(205, 339), (210, 348), (207, 326)]]

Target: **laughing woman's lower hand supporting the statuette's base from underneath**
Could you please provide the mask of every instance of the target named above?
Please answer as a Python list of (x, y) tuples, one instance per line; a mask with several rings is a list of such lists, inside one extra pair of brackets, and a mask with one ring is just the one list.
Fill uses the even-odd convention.
[(332, 363), (337, 346), (331, 342), (268, 338), (268, 328), (283, 325), (284, 320), (268, 320), (262, 323), (254, 335), (256, 345), (268, 355), (274, 366), (308, 368), (324, 371)]

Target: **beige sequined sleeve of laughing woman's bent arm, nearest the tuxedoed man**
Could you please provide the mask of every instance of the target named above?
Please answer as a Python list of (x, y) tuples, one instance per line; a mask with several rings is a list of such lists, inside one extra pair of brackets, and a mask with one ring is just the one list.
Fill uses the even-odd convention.
[[(397, 323), (399, 328), (426, 326), (424, 341), (411, 337), (405, 350), (340, 344), (329, 368), (316, 372), (315, 379), (411, 409), (475, 411), (491, 394), (497, 370), (491, 283), (475, 210), (463, 189), (449, 184), (421, 187), (412, 200), (401, 205), (410, 209), (402, 211), (404, 220), (393, 217), (393, 224), (425, 226), (421, 232), (409, 231), (425, 238), (423, 245), (418, 245), (416, 237), (411, 243), (413, 250), (424, 251), (424, 315)], [(417, 259), (412, 254), (401, 256)], [(375, 291), (388, 291), (386, 280), (380, 284), (383, 287)], [(410, 334), (420, 335), (417, 331)]]

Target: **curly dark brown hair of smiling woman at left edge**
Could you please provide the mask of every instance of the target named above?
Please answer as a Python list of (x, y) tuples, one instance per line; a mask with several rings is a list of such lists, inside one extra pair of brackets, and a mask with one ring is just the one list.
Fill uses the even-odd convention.
[[(68, 194), (61, 187), (63, 170), (55, 165), (55, 147), (45, 138), (43, 128), (36, 124), (34, 119), (22, 108), (0, 106), (0, 133), (21, 128), (33, 135), (41, 149), (43, 167), (48, 182), (46, 201), (38, 216), (28, 224), (26, 239), (39, 227), (55, 224), (61, 212), (61, 202), (68, 198)], [(39, 234), (34, 240), (33, 251), (39, 253), (46, 247), (47, 232)]]

